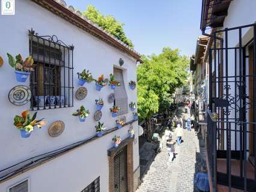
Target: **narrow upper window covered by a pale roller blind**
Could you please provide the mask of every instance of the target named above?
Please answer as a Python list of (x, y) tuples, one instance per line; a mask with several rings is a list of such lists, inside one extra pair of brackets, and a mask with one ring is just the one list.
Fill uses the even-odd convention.
[(126, 94), (126, 88), (124, 85), (124, 78), (123, 78), (123, 70), (119, 68), (114, 68), (114, 76), (118, 82), (121, 83), (121, 86), (117, 86), (115, 88), (115, 106), (120, 107), (119, 112), (117, 115), (123, 115), (124, 113), (128, 112), (128, 97)]

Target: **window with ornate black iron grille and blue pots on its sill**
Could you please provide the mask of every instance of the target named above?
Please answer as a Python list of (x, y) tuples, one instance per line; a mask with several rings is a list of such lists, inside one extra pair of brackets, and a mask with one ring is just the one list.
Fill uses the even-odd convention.
[(29, 30), (29, 53), (35, 68), (30, 75), (31, 110), (73, 106), (73, 49), (56, 35)]

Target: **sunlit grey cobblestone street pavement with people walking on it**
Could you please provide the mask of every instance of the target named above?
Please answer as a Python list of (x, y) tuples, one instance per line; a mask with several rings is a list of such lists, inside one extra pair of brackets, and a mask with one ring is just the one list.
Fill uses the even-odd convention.
[[(179, 109), (181, 112), (182, 108)], [(189, 113), (183, 113), (185, 118)], [(168, 162), (166, 136), (162, 137), (163, 149), (156, 155), (150, 169), (136, 192), (193, 192), (195, 174), (204, 163), (205, 150), (197, 133), (184, 130), (184, 142), (175, 145), (178, 153), (173, 163)], [(201, 146), (201, 147), (200, 147)], [(201, 151), (200, 151), (201, 150)]]

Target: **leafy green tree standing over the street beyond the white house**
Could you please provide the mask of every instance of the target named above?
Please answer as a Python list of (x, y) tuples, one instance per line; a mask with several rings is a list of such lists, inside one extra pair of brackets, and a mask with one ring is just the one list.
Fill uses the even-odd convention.
[(165, 47), (159, 55), (142, 56), (142, 61), (137, 68), (138, 112), (140, 119), (147, 119), (150, 139), (151, 115), (169, 109), (171, 95), (186, 83), (189, 60), (178, 49)]

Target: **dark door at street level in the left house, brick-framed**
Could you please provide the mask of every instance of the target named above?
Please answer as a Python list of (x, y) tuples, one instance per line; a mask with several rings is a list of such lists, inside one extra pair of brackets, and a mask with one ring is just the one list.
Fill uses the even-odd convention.
[(115, 192), (127, 192), (127, 146), (114, 157)]

